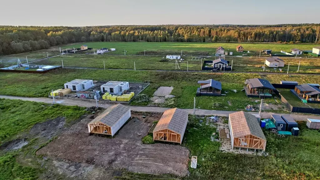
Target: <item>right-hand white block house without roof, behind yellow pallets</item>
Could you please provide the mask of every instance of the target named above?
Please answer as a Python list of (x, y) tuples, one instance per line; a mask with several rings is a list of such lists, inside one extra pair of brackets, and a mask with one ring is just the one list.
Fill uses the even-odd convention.
[(119, 94), (121, 95), (125, 90), (129, 89), (129, 82), (109, 81), (101, 86), (102, 93)]

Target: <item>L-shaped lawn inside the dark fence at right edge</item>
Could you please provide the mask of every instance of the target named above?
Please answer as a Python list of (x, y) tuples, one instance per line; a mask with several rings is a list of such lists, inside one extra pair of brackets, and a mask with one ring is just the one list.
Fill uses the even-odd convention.
[(290, 89), (277, 89), (281, 95), (293, 106), (303, 108), (320, 108), (320, 103), (303, 103)]

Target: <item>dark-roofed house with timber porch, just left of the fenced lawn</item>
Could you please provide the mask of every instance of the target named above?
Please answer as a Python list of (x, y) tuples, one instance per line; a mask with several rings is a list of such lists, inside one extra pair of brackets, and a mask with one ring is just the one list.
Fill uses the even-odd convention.
[(248, 97), (272, 97), (272, 91), (276, 90), (268, 80), (260, 78), (246, 79), (244, 84), (244, 91)]

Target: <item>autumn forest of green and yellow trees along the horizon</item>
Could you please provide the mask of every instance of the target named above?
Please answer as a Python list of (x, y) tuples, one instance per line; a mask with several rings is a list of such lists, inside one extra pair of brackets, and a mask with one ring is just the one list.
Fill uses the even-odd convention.
[(0, 54), (76, 42), (319, 43), (320, 24), (37, 27), (0, 26)]

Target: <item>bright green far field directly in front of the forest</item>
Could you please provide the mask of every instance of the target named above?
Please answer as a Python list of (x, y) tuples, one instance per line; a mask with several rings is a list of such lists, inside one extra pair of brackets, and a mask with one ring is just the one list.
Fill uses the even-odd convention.
[[(236, 52), (236, 46), (242, 45), (244, 52), (246, 51), (260, 51), (263, 49), (272, 49), (273, 51), (288, 51), (292, 48), (299, 48), (302, 50), (311, 50), (315, 45), (310, 44), (247, 44), (247, 43), (182, 43), (182, 42), (85, 42), (75, 45), (67, 45), (63, 48), (80, 47), (81, 45), (88, 45), (90, 48), (100, 49), (102, 47), (116, 48), (116, 51), (109, 52), (112, 54), (144, 54), (146, 51), (156, 51), (158, 53), (166, 54), (165, 51), (175, 52), (177, 54), (187, 55), (193, 52), (203, 52), (208, 55), (215, 53), (215, 49), (219, 46), (225, 48), (226, 51)], [(185, 52), (185, 53), (184, 53)], [(262, 53), (261, 53), (262, 54)]]

